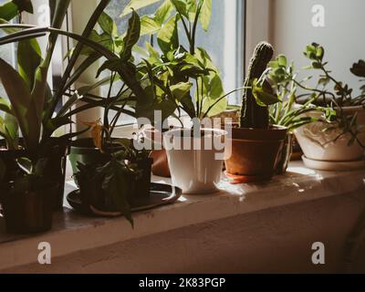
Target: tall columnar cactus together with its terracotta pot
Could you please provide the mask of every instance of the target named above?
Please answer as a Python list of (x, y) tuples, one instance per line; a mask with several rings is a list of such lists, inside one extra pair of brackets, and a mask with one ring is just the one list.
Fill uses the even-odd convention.
[(279, 102), (265, 78), (273, 56), (270, 44), (259, 43), (248, 68), (240, 125), (232, 129), (232, 153), (225, 161), (234, 183), (270, 180), (287, 137), (287, 128), (270, 125), (268, 107)]

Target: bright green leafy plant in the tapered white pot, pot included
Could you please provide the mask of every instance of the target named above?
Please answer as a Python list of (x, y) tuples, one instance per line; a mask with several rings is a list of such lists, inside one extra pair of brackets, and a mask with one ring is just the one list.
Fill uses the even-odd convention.
[[(196, 46), (197, 29), (201, 26), (206, 31), (211, 15), (212, 0), (172, 0), (162, 1), (154, 16), (141, 17), (142, 34), (151, 39), (143, 48), (145, 74), (154, 77), (155, 95), (160, 100), (146, 111), (162, 110), (163, 116), (167, 114), (178, 120), (185, 115), (185, 120), (189, 121), (187, 129), (183, 128), (182, 122), (182, 128), (163, 134), (167, 152), (158, 153), (167, 155), (172, 183), (181, 187), (184, 193), (214, 192), (223, 169), (224, 158), (216, 160), (216, 154), (219, 156), (223, 149), (204, 146), (224, 141), (225, 131), (213, 130), (212, 124), (203, 126), (200, 123), (227, 109), (227, 95), (218, 68), (208, 52)], [(183, 34), (179, 34), (179, 27)], [(195, 127), (195, 135), (192, 135), (191, 120), (199, 124)], [(162, 132), (162, 129), (157, 130)], [(150, 139), (154, 137), (155, 142), (156, 136), (161, 136), (156, 129), (148, 130), (146, 135)], [(181, 144), (183, 141), (186, 147)], [(193, 144), (200, 147), (194, 149)], [(162, 159), (162, 162), (166, 160)], [(165, 166), (161, 165), (162, 169), (168, 167)]]

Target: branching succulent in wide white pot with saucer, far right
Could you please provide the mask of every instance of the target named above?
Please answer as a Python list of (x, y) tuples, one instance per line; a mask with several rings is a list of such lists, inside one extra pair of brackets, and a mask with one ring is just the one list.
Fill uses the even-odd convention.
[[(353, 96), (353, 89), (331, 75), (325, 50), (318, 44), (307, 47), (305, 56), (311, 64), (308, 68), (319, 71), (318, 86), (308, 87), (293, 79), (297, 88), (314, 94), (316, 103), (332, 112), (330, 122), (318, 121), (295, 130), (297, 141), (305, 154), (308, 166), (321, 170), (346, 170), (363, 167), (365, 145), (365, 97)], [(351, 68), (352, 73), (363, 76), (363, 62)], [(333, 86), (333, 91), (328, 90)], [(318, 118), (320, 113), (308, 112), (308, 117)], [(353, 167), (351, 167), (351, 165)]]

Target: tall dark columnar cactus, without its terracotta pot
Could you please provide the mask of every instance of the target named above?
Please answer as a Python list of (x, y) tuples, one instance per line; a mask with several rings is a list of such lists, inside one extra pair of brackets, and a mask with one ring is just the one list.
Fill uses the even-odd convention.
[[(240, 118), (241, 128), (269, 128), (269, 111), (267, 105), (276, 103), (277, 99), (272, 99), (273, 96), (270, 94), (270, 86), (266, 82), (266, 79), (261, 77), (265, 73), (267, 64), (273, 56), (274, 48), (270, 44), (262, 42), (255, 47), (255, 52), (248, 68), (247, 78), (245, 78), (245, 91)], [(257, 94), (260, 94), (264, 99), (267, 97), (267, 102), (263, 103), (262, 100), (257, 99)]]

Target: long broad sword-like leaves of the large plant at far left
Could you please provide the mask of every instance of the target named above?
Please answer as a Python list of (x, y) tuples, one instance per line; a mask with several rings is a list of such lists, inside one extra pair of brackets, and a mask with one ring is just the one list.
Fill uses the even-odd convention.
[[(29, 1), (27, 1), (29, 2)], [(102, 0), (90, 17), (88, 26), (83, 35), (89, 36), (92, 27), (94, 27), (101, 15), (102, 11), (108, 5), (110, 0)], [(71, 122), (70, 116), (66, 114), (68, 109), (72, 107), (76, 100), (69, 100), (60, 112), (64, 115), (55, 117), (55, 109), (57, 104), (68, 91), (72, 83), (92, 64), (91, 62), (82, 63), (79, 68), (76, 68), (75, 73), (71, 74), (70, 70), (66, 72), (63, 79), (71, 80), (68, 87), (61, 87), (57, 93), (53, 94), (47, 85), (47, 71), (51, 64), (51, 59), (55, 50), (59, 28), (66, 16), (70, 1), (51, 0), (53, 10), (52, 28), (38, 28), (27, 25), (11, 25), (7, 24), (3, 19), (3, 25), (0, 29), (8, 33), (8, 36), (0, 38), (0, 45), (18, 42), (17, 62), (18, 72), (0, 59), (0, 78), (10, 102), (2, 99), (0, 110), (5, 111), (5, 120), (2, 121), (3, 127), (0, 128), (2, 136), (6, 139), (8, 148), (16, 149), (17, 125), (22, 130), (23, 141), (22, 145), (31, 153), (36, 153), (40, 143), (47, 143), (48, 138), (59, 127)], [(91, 28), (90, 28), (91, 27)], [(48, 47), (46, 56), (43, 58), (39, 46), (36, 42), (37, 36), (44, 36), (47, 32)], [(82, 47), (83, 38), (78, 38), (80, 41), (78, 47)], [(68, 67), (74, 68), (75, 62), (72, 60), (78, 58), (77, 49), (75, 50)], [(17, 86), (14, 87), (14, 84)], [(83, 110), (83, 109), (80, 109)], [(73, 113), (76, 113), (75, 111)], [(7, 119), (6, 119), (7, 118)], [(63, 136), (63, 139), (69, 139), (73, 134)]]

